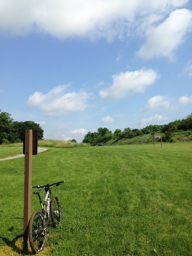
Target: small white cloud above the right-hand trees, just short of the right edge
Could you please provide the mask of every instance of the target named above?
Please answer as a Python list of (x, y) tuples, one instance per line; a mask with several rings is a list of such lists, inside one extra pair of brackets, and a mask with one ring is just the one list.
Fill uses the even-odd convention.
[(145, 110), (170, 110), (172, 109), (171, 106), (171, 99), (169, 99), (167, 96), (161, 96), (157, 95), (150, 99), (148, 99), (148, 102), (145, 106)]

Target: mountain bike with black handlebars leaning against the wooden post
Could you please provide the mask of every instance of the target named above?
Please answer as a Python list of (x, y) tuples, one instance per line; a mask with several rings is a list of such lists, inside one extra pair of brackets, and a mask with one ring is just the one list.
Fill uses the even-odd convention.
[[(33, 194), (38, 195), (42, 209), (41, 211), (37, 210), (33, 212), (29, 220), (28, 237), (33, 253), (40, 253), (44, 249), (48, 227), (51, 225), (52, 227), (57, 227), (58, 224), (61, 224), (61, 206), (58, 197), (54, 195), (51, 198), (51, 188), (53, 186), (59, 186), (61, 183), (64, 183), (64, 181), (47, 185), (32, 186), (32, 188), (38, 188), (38, 191), (33, 192)], [(44, 188), (46, 193), (44, 203), (41, 201), (41, 188)], [(51, 222), (49, 221), (49, 209)]]

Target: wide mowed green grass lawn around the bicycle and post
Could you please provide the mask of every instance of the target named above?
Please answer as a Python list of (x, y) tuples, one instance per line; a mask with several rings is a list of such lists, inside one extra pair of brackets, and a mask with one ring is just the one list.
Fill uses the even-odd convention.
[[(39, 255), (192, 255), (192, 143), (49, 148), (32, 167), (34, 186), (65, 180), (52, 190), (62, 224)], [(24, 157), (0, 175), (0, 255), (20, 255)]]

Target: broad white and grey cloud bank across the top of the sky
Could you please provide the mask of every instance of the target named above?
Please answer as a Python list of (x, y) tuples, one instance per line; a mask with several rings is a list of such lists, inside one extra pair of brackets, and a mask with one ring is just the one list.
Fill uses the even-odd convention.
[[(0, 30), (13, 35), (49, 33), (53, 37), (122, 38), (151, 16), (166, 17), (188, 0), (1, 0)], [(156, 18), (157, 19), (157, 18)], [(148, 21), (149, 22), (149, 21)], [(150, 25), (150, 24), (149, 24)]]

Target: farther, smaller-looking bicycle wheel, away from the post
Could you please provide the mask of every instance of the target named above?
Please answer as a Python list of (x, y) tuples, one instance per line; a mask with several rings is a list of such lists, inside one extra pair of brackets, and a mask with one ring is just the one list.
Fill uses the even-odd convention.
[(57, 227), (58, 224), (61, 224), (61, 205), (58, 197), (55, 195), (51, 198), (50, 213), (52, 226)]

